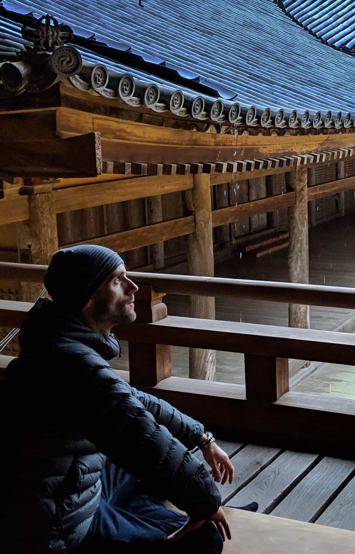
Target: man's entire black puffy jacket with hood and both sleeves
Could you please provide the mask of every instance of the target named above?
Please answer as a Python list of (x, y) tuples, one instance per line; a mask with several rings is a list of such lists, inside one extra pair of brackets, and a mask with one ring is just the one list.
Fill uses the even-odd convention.
[(219, 491), (189, 452), (204, 428), (116, 375), (114, 335), (41, 299), (19, 343), (2, 386), (4, 551), (72, 550), (99, 505), (106, 457), (193, 518), (217, 511)]

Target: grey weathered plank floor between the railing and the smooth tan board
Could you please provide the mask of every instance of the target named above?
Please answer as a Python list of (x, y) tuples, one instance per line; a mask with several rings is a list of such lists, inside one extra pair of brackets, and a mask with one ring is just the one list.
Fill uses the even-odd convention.
[[(262, 514), (355, 531), (355, 461), (255, 444), (217, 444), (235, 468), (233, 483), (218, 485), (223, 505), (256, 501)], [(195, 455), (204, 461), (200, 450)]]

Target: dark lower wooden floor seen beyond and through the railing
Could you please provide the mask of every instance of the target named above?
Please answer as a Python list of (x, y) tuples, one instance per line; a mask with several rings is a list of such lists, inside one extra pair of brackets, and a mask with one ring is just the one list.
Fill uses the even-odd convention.
[[(216, 265), (219, 277), (287, 281), (287, 250), (251, 259), (236, 257)], [(334, 286), (355, 286), (355, 215), (335, 219), (310, 229), (310, 282)], [(170, 315), (187, 316), (186, 296), (166, 296)], [(312, 329), (335, 330), (355, 316), (355, 310), (311, 306)], [(287, 326), (287, 305), (272, 302), (216, 298), (216, 319), (264, 325)], [(355, 324), (354, 324), (355, 326)], [(122, 357), (113, 361), (128, 370), (128, 348), (122, 343)], [(188, 376), (187, 348), (172, 348), (174, 376)], [(315, 364), (318, 369), (293, 390), (355, 399), (355, 366)], [(313, 366), (312, 366), (313, 367)], [(244, 356), (217, 352), (217, 381), (244, 384)]]

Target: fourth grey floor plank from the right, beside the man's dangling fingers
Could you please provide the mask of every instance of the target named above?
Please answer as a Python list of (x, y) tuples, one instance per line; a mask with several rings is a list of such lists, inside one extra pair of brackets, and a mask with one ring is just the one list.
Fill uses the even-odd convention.
[(232, 496), (236, 495), (245, 485), (266, 468), (278, 454), (279, 448), (261, 447), (256, 444), (247, 444), (237, 454), (232, 456), (231, 463), (234, 466), (234, 479), (232, 484), (217, 484), (222, 495), (222, 504), (225, 504)]

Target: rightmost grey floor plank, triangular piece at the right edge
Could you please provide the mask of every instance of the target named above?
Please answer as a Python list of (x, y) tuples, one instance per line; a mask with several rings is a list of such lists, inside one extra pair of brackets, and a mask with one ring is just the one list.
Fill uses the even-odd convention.
[(355, 478), (338, 494), (316, 524), (355, 531)]

